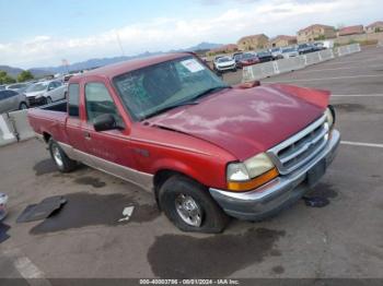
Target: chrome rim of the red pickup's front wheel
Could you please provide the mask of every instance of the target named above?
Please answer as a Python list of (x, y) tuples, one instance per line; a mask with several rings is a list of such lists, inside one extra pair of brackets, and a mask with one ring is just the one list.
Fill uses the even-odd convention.
[(175, 210), (179, 217), (189, 226), (199, 227), (202, 223), (202, 212), (197, 202), (186, 194), (179, 194), (175, 199)]

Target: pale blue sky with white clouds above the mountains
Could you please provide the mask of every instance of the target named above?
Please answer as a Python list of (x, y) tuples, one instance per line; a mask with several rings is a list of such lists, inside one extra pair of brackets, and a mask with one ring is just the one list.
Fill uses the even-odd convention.
[(169, 50), (248, 34), (295, 34), (313, 23), (383, 20), (382, 0), (0, 0), (0, 64), (59, 65)]

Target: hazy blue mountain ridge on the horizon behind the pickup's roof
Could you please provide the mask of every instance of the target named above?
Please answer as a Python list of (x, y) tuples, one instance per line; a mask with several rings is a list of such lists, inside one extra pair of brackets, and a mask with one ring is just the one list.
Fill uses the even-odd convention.
[[(170, 50), (169, 52), (179, 52), (179, 51), (200, 51), (200, 50), (210, 50), (213, 48), (218, 48), (222, 46), (221, 44), (212, 44), (212, 43), (200, 43), (197, 46), (189, 47), (186, 49), (178, 49), (178, 50)], [(165, 53), (163, 51), (158, 51), (158, 52), (149, 52), (146, 51), (143, 53), (137, 55), (137, 56), (121, 56), (121, 57), (114, 57), (114, 58), (102, 58), (102, 59), (90, 59), (86, 61), (81, 61), (81, 62), (76, 62), (72, 63), (68, 67), (45, 67), (45, 68), (34, 68), (31, 69), (33, 71), (32, 73), (67, 73), (69, 72), (74, 72), (74, 71), (81, 71), (81, 70), (89, 70), (89, 69), (94, 69), (98, 67), (104, 67), (108, 64), (113, 64), (116, 62), (121, 62), (121, 61), (127, 61), (127, 60), (132, 60), (132, 59), (139, 59), (139, 58), (147, 58), (151, 56), (156, 56)]]

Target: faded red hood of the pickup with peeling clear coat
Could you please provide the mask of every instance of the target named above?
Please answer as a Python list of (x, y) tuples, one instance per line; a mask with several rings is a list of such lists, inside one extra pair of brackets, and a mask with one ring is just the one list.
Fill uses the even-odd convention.
[(172, 109), (148, 121), (208, 141), (244, 160), (320, 118), (328, 97), (325, 91), (290, 85), (228, 88), (198, 105)]

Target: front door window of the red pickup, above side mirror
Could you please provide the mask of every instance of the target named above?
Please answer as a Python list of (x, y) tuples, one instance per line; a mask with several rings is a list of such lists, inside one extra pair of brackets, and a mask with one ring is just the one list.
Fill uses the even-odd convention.
[(113, 115), (117, 123), (123, 122), (117, 107), (103, 83), (88, 83), (85, 85), (85, 106), (88, 121), (90, 122), (105, 114)]

